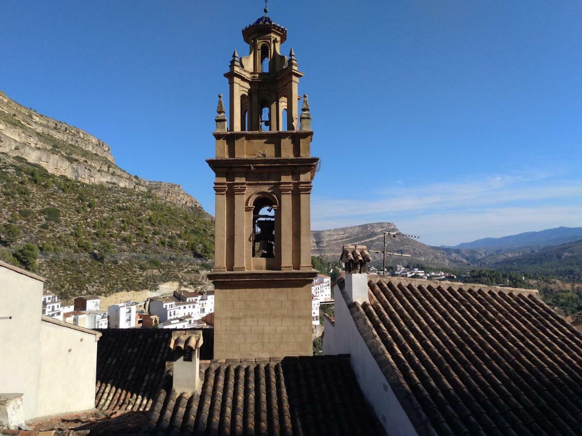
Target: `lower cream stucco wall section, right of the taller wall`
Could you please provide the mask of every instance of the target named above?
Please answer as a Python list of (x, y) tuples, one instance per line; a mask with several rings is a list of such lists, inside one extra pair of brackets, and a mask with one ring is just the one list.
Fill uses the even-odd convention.
[(40, 340), (37, 416), (93, 409), (97, 337), (43, 319)]

